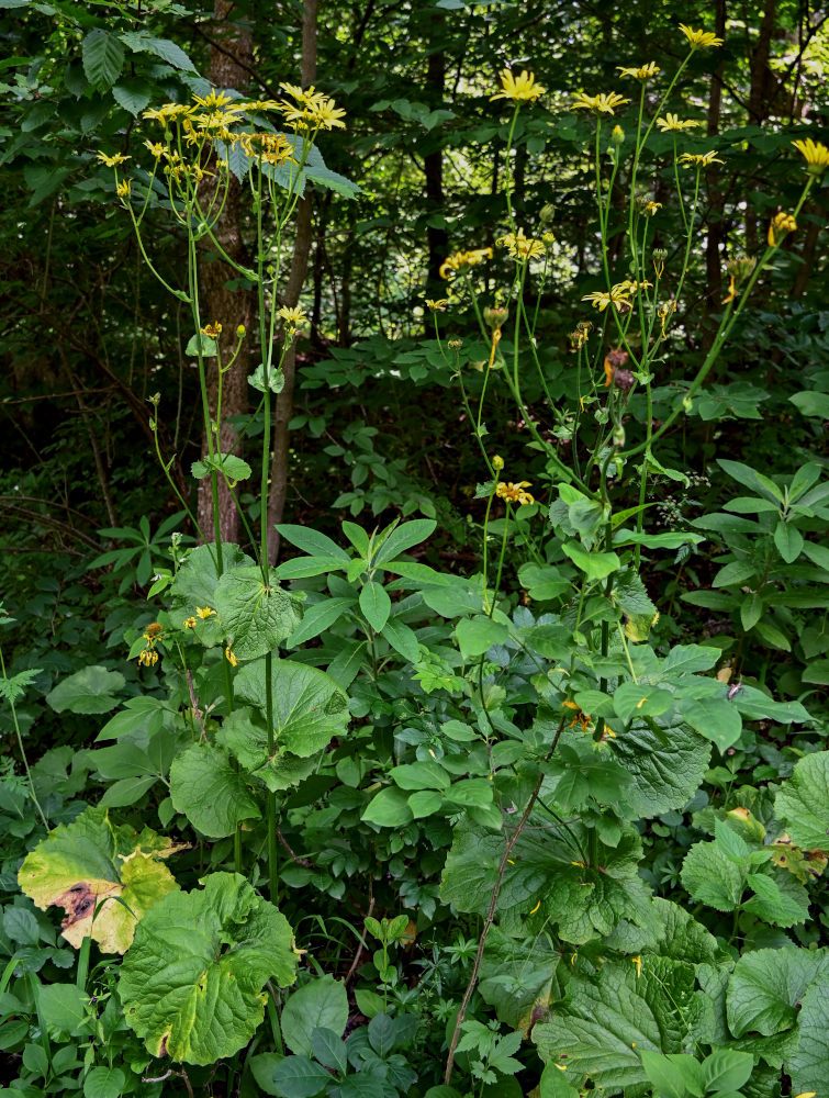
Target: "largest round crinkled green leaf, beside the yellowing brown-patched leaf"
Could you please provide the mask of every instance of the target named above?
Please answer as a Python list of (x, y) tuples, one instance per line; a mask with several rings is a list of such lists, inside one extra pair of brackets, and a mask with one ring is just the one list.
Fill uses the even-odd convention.
[(268, 979), (296, 974), (284, 916), (236, 873), (171, 893), (138, 923), (121, 966), (124, 1017), (153, 1056), (213, 1064), (243, 1049), (265, 1017)]

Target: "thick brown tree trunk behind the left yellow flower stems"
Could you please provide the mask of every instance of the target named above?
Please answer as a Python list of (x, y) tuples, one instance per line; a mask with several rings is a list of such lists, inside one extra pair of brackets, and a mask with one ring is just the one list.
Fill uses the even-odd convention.
[[(210, 82), (214, 88), (235, 88), (243, 91), (247, 87), (247, 74), (243, 66), (250, 66), (253, 60), (253, 43), (250, 34), (231, 22), (234, 13), (233, 0), (214, 0), (213, 22), (216, 45), (210, 56)], [(220, 48), (221, 47), (221, 48)], [(214, 227), (216, 239), (236, 262), (249, 266), (242, 238), (242, 188), (234, 175), (227, 191), (227, 200), (217, 224)], [(205, 251), (212, 246), (206, 245)], [(203, 324), (220, 323), (222, 335), (219, 348), (222, 361), (228, 362), (236, 348), (236, 328), (244, 324), (248, 333), (255, 328), (256, 295), (249, 290), (228, 290), (228, 279), (236, 272), (221, 259), (211, 261), (200, 257), (200, 312)], [(240, 444), (236, 430), (227, 422), (232, 416), (244, 415), (248, 410), (247, 377), (250, 372), (249, 347), (250, 336), (243, 341), (239, 356), (233, 367), (222, 379), (222, 423), (220, 425), (217, 449), (224, 453), (240, 453)], [(209, 359), (208, 399), (211, 418), (216, 414), (219, 394), (219, 373), (216, 360)], [(202, 438), (202, 455), (208, 452), (206, 436)], [(198, 518), (202, 534), (209, 540), (213, 538), (213, 496), (211, 480), (199, 481)], [(224, 481), (219, 481), (219, 518), (223, 541), (239, 541), (240, 522), (233, 496)]]

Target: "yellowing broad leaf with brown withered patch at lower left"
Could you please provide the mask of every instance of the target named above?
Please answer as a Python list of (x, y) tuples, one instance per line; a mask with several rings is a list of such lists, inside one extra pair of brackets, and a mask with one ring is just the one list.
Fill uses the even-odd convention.
[(178, 888), (159, 861), (176, 849), (149, 828), (136, 836), (128, 826), (113, 826), (105, 808), (86, 808), (35, 847), (18, 882), (42, 910), (51, 905), (65, 909), (60, 931), (76, 949), (91, 937), (103, 953), (123, 953), (136, 921)]

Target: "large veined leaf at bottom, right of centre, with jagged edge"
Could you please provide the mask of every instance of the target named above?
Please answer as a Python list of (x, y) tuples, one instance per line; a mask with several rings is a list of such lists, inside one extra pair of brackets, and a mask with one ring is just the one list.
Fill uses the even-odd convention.
[(592, 978), (574, 976), (563, 1004), (533, 1030), (541, 1058), (613, 1091), (647, 1082), (642, 1052), (681, 1052), (699, 1012), (694, 967), (646, 954), (639, 964), (606, 961)]

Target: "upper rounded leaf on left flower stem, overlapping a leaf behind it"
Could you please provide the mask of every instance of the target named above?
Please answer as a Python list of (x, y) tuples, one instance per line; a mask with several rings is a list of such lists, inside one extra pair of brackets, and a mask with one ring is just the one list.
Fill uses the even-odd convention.
[(255, 660), (275, 652), (301, 620), (301, 600), (279, 586), (276, 569), (262, 583), (259, 568), (235, 568), (216, 585), (216, 610), (240, 660)]

